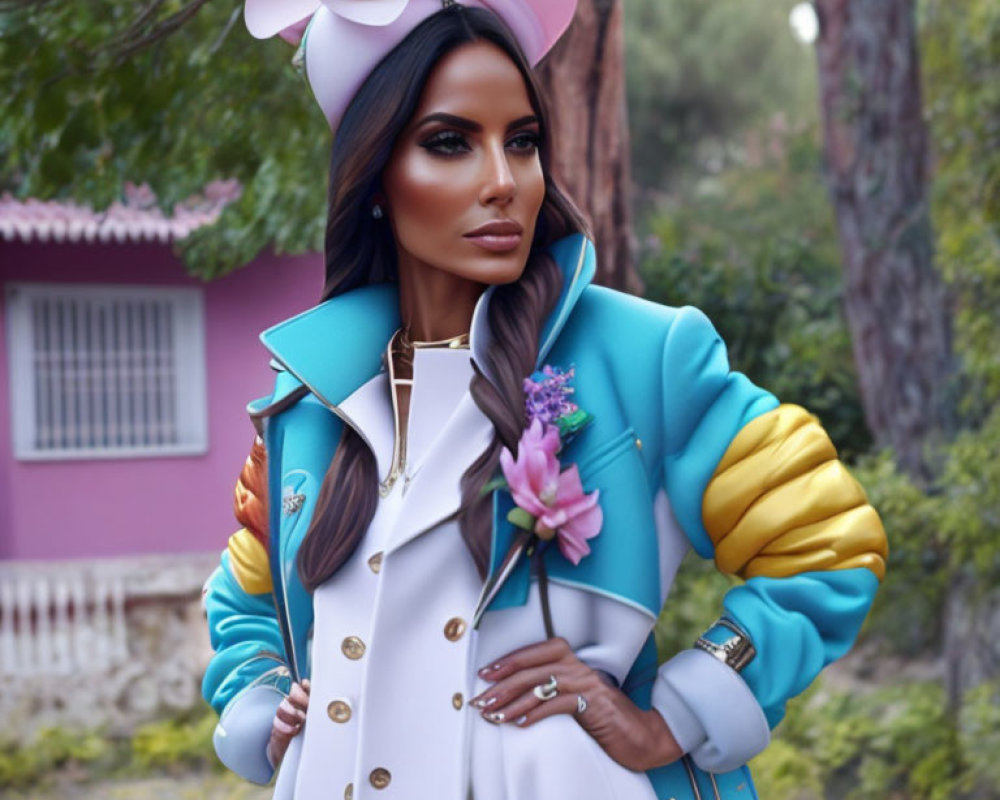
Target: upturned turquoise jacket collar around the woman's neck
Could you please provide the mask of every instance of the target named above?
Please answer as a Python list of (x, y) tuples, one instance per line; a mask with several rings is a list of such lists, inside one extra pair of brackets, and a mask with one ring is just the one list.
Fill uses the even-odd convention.
[[(582, 234), (560, 239), (549, 252), (563, 273), (563, 289), (542, 330), (538, 365), (552, 349), (596, 269), (594, 246)], [(485, 309), (490, 294), (487, 290), (476, 306), (470, 337), (472, 357), (484, 372), (483, 355), (490, 338)], [(385, 347), (399, 326), (398, 289), (395, 284), (381, 284), (327, 300), (268, 328), (260, 339), (282, 368), (353, 426), (339, 406), (378, 374)]]

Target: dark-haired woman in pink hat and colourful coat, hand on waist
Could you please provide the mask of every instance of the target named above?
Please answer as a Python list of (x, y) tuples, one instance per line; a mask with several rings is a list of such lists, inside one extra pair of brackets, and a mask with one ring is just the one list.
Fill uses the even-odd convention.
[[(329, 0), (306, 30), (327, 282), (262, 335), (246, 528), (206, 587), (216, 749), (297, 800), (753, 797), (743, 765), (867, 612), (878, 517), (703, 315), (587, 285), (522, 51), (574, 4), (443, 5)], [(746, 582), (657, 666), (689, 546)]]

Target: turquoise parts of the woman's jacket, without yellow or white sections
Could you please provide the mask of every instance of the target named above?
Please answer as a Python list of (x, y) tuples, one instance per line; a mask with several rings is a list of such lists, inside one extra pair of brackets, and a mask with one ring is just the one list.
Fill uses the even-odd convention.
[[(779, 414), (778, 401), (730, 370), (725, 345), (697, 309), (664, 307), (590, 285), (594, 250), (582, 236), (558, 242), (552, 254), (563, 270), (564, 286), (543, 331), (538, 366), (576, 367), (574, 400), (594, 421), (560, 460), (579, 466), (586, 490), (600, 489), (604, 525), (579, 566), (558, 548), (549, 548), (548, 574), (553, 581), (656, 615), (662, 592), (653, 497), (664, 488), (693, 548), (718, 561), (716, 550), (723, 545), (716, 540), (725, 540), (706, 527), (706, 490), (741, 432), (743, 441), (753, 438), (746, 432), (763, 423), (748, 428), (750, 423)], [(261, 335), (280, 367), (274, 393), (250, 405), (267, 447), (270, 497), (281, 496), (281, 476), (294, 465), (303, 466), (304, 476), (325, 474), (341, 426), (350, 424), (338, 405), (380, 371), (386, 342), (398, 326), (396, 288), (381, 285), (334, 298)], [(331, 353), (313, 347), (316, 341), (342, 341), (344, 346)], [(287, 665), (300, 678), (308, 674), (312, 597), (299, 582), (295, 554), (317, 490), (292, 487), (305, 498), (302, 513), (283, 515), (280, 502), (270, 503), (273, 592), (246, 591), (231, 553), (223, 554), (221, 567), (209, 580), (206, 608), (216, 655), (203, 691), (220, 712), (278, 665)], [(513, 540), (506, 520), (510, 508), (509, 495), (497, 491), (494, 573)], [(884, 556), (880, 534), (879, 528), (869, 537), (868, 549)], [(802, 563), (809, 567), (819, 562), (807, 558)], [(725, 614), (749, 634), (756, 657), (741, 675), (773, 727), (786, 701), (849, 649), (879, 576), (864, 558), (808, 569), (790, 568), (786, 559), (778, 562), (775, 574), (759, 565), (751, 572), (726, 595), (725, 608), (714, 613)], [(527, 559), (515, 560), (483, 611), (523, 604), (531, 580)], [(650, 707), (650, 676), (656, 666), (650, 636), (623, 687), (644, 708)], [(710, 775), (685, 759), (653, 770), (650, 779), (664, 799), (756, 797), (746, 767)]]

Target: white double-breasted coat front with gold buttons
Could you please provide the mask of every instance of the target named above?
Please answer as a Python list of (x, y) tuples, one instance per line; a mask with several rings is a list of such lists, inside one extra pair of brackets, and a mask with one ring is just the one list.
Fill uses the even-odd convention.
[[(470, 621), (482, 590), (458, 524), (459, 479), (492, 436), (468, 391), (468, 351), (418, 350), (405, 478), (383, 498), (358, 550), (314, 595), (312, 693), (276, 798), (531, 800), (655, 797), (644, 774), (612, 761), (570, 716), (528, 729), (486, 722), (468, 700), (477, 670), (545, 639), (537, 585), (525, 606)], [(341, 406), (385, 476), (393, 447), (383, 373)], [(687, 549), (668, 534), (669, 585)], [(550, 586), (557, 634), (623, 680), (653, 626), (647, 613)], [(728, 669), (728, 668), (726, 668)]]

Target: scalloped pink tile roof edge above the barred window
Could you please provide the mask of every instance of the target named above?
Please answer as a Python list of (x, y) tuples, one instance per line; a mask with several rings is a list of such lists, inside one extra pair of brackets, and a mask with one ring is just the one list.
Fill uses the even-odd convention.
[(170, 242), (211, 225), (238, 198), (236, 181), (213, 181), (165, 216), (148, 185), (125, 184), (123, 202), (105, 211), (65, 200), (16, 200), (0, 195), (0, 237), (22, 242)]

